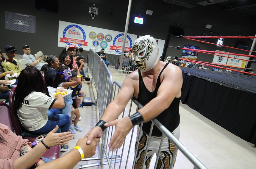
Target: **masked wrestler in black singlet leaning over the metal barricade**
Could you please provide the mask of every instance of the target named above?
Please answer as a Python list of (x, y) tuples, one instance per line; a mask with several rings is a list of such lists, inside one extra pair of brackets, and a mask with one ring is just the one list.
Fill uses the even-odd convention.
[[(110, 150), (115, 151), (123, 144), (125, 136), (133, 126), (143, 123), (139, 148), (136, 153), (135, 168), (142, 168), (142, 162), (149, 137), (151, 119), (157, 118), (179, 139), (179, 98), (181, 96), (182, 72), (179, 67), (159, 60), (156, 40), (149, 35), (138, 38), (132, 51), (138, 70), (129, 74), (116, 98), (107, 106), (96, 126), (89, 131), (87, 144), (93, 138), (100, 138), (103, 131), (115, 125), (115, 133), (110, 140)], [(166, 90), (170, 88), (171, 90)], [(117, 119), (129, 100), (134, 97), (144, 107), (130, 117)], [(161, 106), (159, 106), (161, 105)], [(116, 120), (117, 119), (117, 120)], [(140, 127), (138, 126), (138, 131)], [(146, 168), (154, 153), (158, 152), (162, 132), (154, 126), (146, 157)], [(138, 137), (138, 134), (137, 134)], [(157, 168), (170, 168), (175, 146), (164, 138)]]

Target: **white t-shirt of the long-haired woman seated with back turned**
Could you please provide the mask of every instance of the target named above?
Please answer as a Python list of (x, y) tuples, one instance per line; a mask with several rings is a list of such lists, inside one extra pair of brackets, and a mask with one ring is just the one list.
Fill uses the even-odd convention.
[(41, 92), (33, 91), (26, 96), (18, 110), (21, 124), (28, 131), (42, 128), (48, 120), (47, 110), (50, 109), (56, 99)]

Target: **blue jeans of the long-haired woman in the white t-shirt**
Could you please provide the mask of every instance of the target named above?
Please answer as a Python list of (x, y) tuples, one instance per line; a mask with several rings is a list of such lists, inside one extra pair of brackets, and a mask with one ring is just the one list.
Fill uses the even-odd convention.
[(48, 117), (47, 123), (40, 129), (28, 131), (30, 134), (43, 134), (52, 131), (56, 125), (61, 127), (61, 132), (67, 132), (70, 126), (70, 117), (68, 115), (57, 114)]

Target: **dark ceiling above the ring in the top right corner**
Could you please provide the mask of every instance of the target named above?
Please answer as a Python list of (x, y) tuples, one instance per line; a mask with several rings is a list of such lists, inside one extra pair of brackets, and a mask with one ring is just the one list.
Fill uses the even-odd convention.
[(193, 8), (220, 4), (226, 12), (239, 12), (242, 16), (256, 16), (256, 0), (163, 0), (181, 7)]

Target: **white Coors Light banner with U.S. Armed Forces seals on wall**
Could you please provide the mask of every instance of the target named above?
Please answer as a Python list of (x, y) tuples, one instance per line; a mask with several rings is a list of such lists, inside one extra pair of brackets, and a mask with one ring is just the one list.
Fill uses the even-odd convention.
[[(137, 35), (127, 33), (125, 51), (132, 49), (132, 44), (136, 39)], [(59, 21), (58, 47), (72, 44), (78, 45), (87, 51), (90, 48), (103, 48), (121, 52), (123, 42), (124, 33), (122, 32)]]

